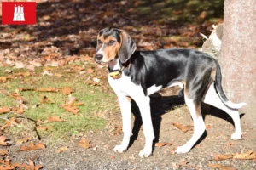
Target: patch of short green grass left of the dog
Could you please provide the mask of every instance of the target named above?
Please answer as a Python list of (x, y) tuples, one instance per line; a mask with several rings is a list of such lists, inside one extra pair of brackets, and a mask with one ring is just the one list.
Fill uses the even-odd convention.
[[(53, 92), (37, 92), (37, 91), (22, 91), (20, 92), (23, 99), (26, 100), (26, 106), (28, 109), (24, 115), (32, 118), (33, 120), (45, 121), (49, 116), (61, 116), (65, 122), (47, 122), (44, 126), (53, 126), (50, 131), (39, 130), (41, 137), (49, 137), (52, 141), (58, 139), (67, 139), (70, 135), (75, 135), (80, 132), (87, 132), (90, 130), (100, 130), (106, 126), (107, 121), (102, 117), (98, 116), (98, 111), (109, 111), (116, 107), (115, 96), (109, 92), (106, 87), (107, 77), (101, 78), (102, 86), (92, 86), (85, 83), (89, 77), (99, 77), (99, 73), (95, 71), (92, 74), (80, 75), (79, 71), (70, 71), (70, 68), (74, 66), (84, 66), (91, 68), (89, 64), (73, 63), (63, 67), (58, 67), (53, 73), (59, 73), (64, 77), (55, 76), (43, 76), (43, 68), (38, 68), (32, 76), (21, 77), (8, 80), (7, 82), (1, 83), (0, 94), (0, 108), (3, 106), (17, 107), (17, 101), (13, 99), (10, 94), (17, 92), (19, 88), (73, 88), (72, 96), (75, 97), (79, 102), (83, 102), (84, 105), (78, 106), (79, 115), (73, 115), (72, 113), (65, 111), (61, 105), (65, 104), (68, 99), (67, 95), (61, 94), (61, 91), (57, 93)], [(0, 68), (1, 76), (8, 75), (3, 73), (5, 69), (13, 70), (13, 72), (26, 71), (24, 69), (12, 69), (12, 68)], [(69, 71), (69, 72), (67, 72)], [(98, 74), (98, 75), (97, 75)], [(46, 96), (50, 99), (51, 103), (41, 104), (40, 97)], [(39, 106), (36, 106), (40, 104)], [(1, 121), (1, 120), (0, 120)], [(3, 123), (3, 120), (2, 120)], [(27, 126), (26, 123), (24, 126)], [(22, 127), (11, 127), (10, 133), (13, 135), (20, 135), (25, 129)]]

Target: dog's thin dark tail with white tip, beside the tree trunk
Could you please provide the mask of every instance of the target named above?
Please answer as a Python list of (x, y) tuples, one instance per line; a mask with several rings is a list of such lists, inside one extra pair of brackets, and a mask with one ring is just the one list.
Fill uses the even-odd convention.
[(224, 94), (223, 88), (221, 86), (222, 76), (221, 76), (220, 66), (218, 65), (217, 61), (215, 61), (215, 63), (216, 63), (216, 77), (215, 77), (214, 86), (215, 86), (215, 89), (217, 90), (219, 98), (222, 100), (224, 105), (234, 110), (240, 109), (242, 106), (247, 105), (246, 103), (235, 104), (226, 97), (226, 95)]

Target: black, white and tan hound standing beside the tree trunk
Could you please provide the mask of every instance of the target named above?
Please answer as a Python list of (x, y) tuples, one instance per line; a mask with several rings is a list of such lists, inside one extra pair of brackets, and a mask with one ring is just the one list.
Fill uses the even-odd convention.
[(177, 147), (177, 153), (189, 152), (206, 130), (201, 116), (201, 102), (229, 114), (235, 124), (231, 139), (241, 139), (238, 109), (245, 104), (235, 104), (227, 99), (221, 86), (218, 62), (209, 55), (189, 48), (136, 51), (136, 43), (124, 30), (111, 27), (99, 32), (94, 59), (97, 63), (108, 63), (108, 82), (119, 99), (124, 137), (114, 151), (122, 153), (130, 142), (133, 99), (141, 112), (145, 136), (145, 146), (139, 156), (152, 154), (154, 130), (149, 95), (173, 86), (183, 88), (184, 99), (194, 122), (192, 138)]

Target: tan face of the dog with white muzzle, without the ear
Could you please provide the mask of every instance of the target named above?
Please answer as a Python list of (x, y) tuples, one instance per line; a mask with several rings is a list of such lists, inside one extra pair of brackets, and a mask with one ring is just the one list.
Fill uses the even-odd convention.
[(113, 60), (118, 54), (121, 44), (112, 36), (104, 38), (102, 35), (98, 36), (97, 39), (97, 52), (103, 55), (102, 62)]

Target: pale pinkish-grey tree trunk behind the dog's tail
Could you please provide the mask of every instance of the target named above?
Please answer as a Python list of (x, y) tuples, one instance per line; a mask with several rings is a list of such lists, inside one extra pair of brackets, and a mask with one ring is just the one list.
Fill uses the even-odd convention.
[(224, 1), (224, 33), (219, 63), (223, 87), (233, 102), (246, 102), (248, 125), (256, 127), (256, 1)]

